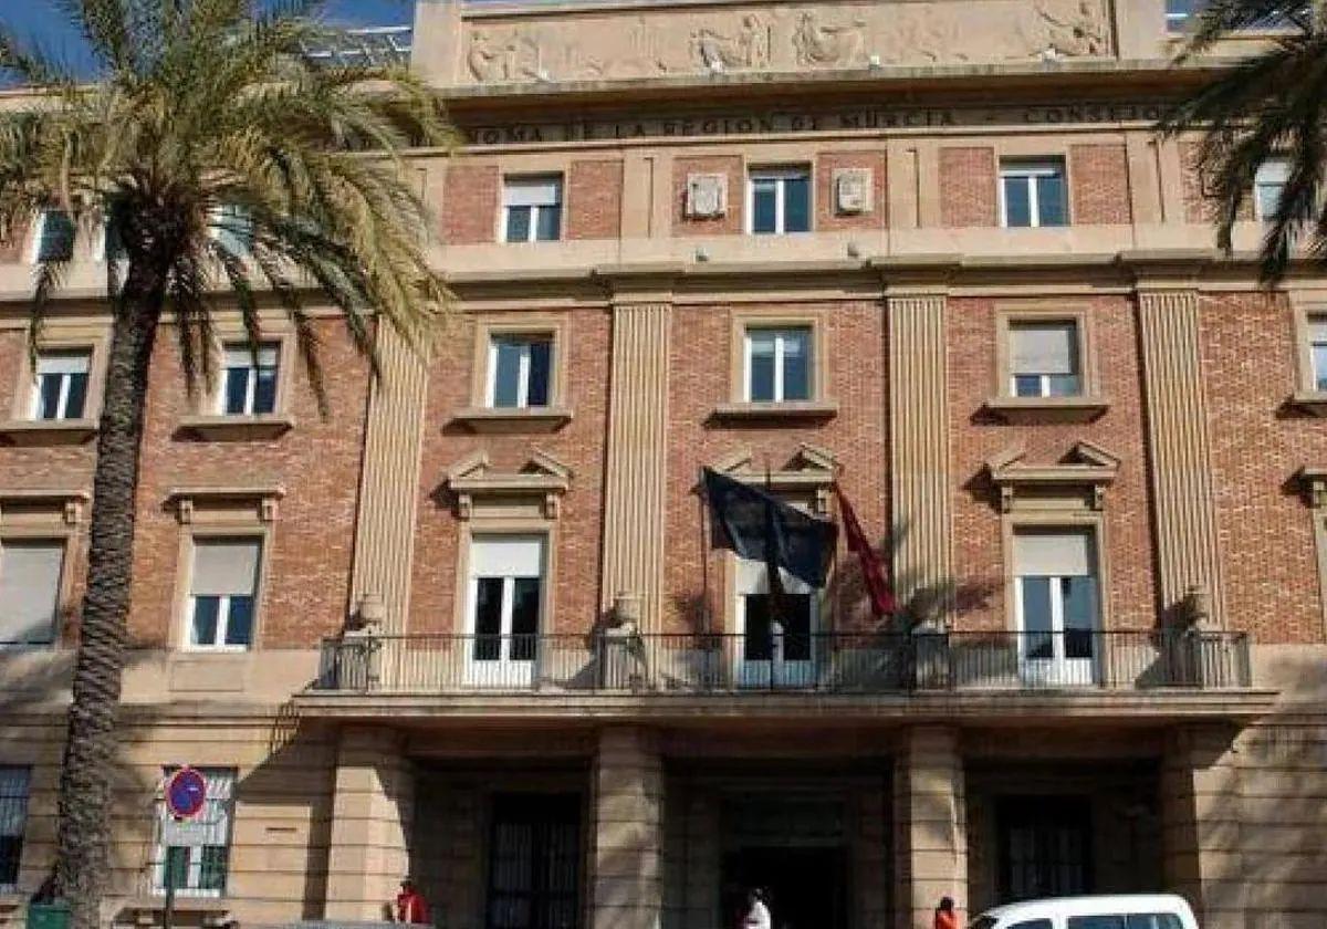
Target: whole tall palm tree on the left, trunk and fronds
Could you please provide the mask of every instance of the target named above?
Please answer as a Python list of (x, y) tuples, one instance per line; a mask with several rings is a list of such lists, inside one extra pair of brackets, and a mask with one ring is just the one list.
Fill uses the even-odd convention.
[[(56, 0), (96, 58), (92, 84), (0, 25), (0, 73), (33, 106), (0, 114), (0, 242), (41, 210), (106, 230), (111, 316), (88, 585), (60, 779), (57, 880), (93, 929), (107, 871), (107, 776), (125, 660), (134, 498), (149, 365), (170, 315), (190, 389), (210, 384), (214, 313), (288, 313), (325, 410), (305, 301), (340, 311), (374, 360), (382, 322), (427, 350), (447, 293), (405, 149), (447, 145), (406, 70), (314, 62), (321, 0)], [(230, 235), (218, 235), (223, 227)], [(244, 246), (239, 246), (243, 242)], [(35, 273), (31, 350), (64, 261)], [(373, 365), (377, 372), (377, 365)]]

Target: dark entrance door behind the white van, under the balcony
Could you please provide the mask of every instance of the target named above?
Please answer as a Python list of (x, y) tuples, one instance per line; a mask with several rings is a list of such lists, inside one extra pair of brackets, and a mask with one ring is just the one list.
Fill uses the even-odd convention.
[(1005, 798), (998, 835), (1001, 902), (1092, 892), (1088, 798)]

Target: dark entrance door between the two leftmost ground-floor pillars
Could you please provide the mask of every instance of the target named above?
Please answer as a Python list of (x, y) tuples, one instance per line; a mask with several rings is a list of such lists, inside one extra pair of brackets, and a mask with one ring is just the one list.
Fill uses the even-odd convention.
[(492, 811), (487, 929), (576, 929), (580, 796), (498, 794)]

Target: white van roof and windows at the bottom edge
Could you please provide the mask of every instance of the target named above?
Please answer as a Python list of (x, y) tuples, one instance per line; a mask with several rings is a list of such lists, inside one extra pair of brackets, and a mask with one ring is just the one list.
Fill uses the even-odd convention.
[(1198, 929), (1198, 921), (1184, 897), (1173, 893), (1121, 893), (997, 906), (969, 929)]

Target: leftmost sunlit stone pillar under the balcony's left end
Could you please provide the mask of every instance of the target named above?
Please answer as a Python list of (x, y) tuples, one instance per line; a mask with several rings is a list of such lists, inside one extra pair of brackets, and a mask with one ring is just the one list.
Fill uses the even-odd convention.
[(385, 918), (410, 873), (414, 771), (403, 738), (391, 730), (341, 731), (332, 800), (326, 918)]

